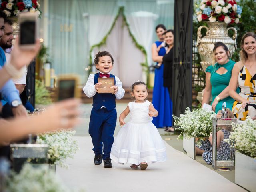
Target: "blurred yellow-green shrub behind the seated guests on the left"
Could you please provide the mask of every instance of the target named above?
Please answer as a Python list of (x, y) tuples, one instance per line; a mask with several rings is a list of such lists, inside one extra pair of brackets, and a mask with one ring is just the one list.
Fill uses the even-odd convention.
[(52, 103), (51, 93), (46, 89), (44, 84), (36, 79), (36, 88), (35, 88), (35, 102), (36, 104), (48, 105)]

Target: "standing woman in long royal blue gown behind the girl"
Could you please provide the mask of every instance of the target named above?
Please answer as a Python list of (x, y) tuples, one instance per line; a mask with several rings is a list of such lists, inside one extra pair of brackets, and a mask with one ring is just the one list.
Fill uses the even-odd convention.
[[(158, 41), (152, 44), (152, 59), (154, 62), (161, 63), (156, 65), (155, 80), (153, 88), (152, 104), (158, 111), (158, 116), (153, 118), (152, 123), (157, 128), (165, 127), (166, 131), (173, 132), (172, 128), (172, 100), (170, 98), (168, 87), (164, 87), (164, 65), (162, 65), (163, 56), (166, 54), (166, 49), (163, 46), (164, 36), (162, 35), (166, 30), (163, 24), (156, 26), (156, 34)], [(162, 44), (162, 45), (161, 45)]]

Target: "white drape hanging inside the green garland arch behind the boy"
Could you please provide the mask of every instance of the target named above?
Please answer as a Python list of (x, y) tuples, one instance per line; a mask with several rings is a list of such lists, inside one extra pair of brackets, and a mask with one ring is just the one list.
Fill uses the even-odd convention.
[(95, 48), (94, 52), (100, 50), (106, 50), (112, 54), (114, 58), (112, 74), (120, 78), (123, 87), (128, 88), (137, 80), (146, 80), (142, 77), (143, 69), (140, 64), (144, 62), (145, 56), (132, 41), (128, 27), (123, 25), (121, 15), (108, 36), (106, 45)]

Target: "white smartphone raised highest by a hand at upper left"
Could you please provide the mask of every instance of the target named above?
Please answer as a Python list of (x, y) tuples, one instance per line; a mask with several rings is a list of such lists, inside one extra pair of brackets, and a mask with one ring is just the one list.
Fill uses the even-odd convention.
[(35, 48), (36, 39), (38, 38), (38, 14), (22, 12), (18, 20), (20, 26), (20, 48)]

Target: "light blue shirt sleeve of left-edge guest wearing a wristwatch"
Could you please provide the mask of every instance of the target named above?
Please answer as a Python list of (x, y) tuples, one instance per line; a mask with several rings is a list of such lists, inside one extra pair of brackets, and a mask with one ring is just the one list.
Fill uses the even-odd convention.
[[(1, 62), (2, 60), (0, 60), (0, 66), (2, 66)], [(4, 100), (6, 100), (9, 104), (11, 104), (13, 100), (20, 100), (19, 91), (16, 89), (12, 79), (8, 80), (6, 84), (0, 88), (0, 92)], [(3, 105), (6, 104), (6, 101), (4, 100), (1, 101)]]

